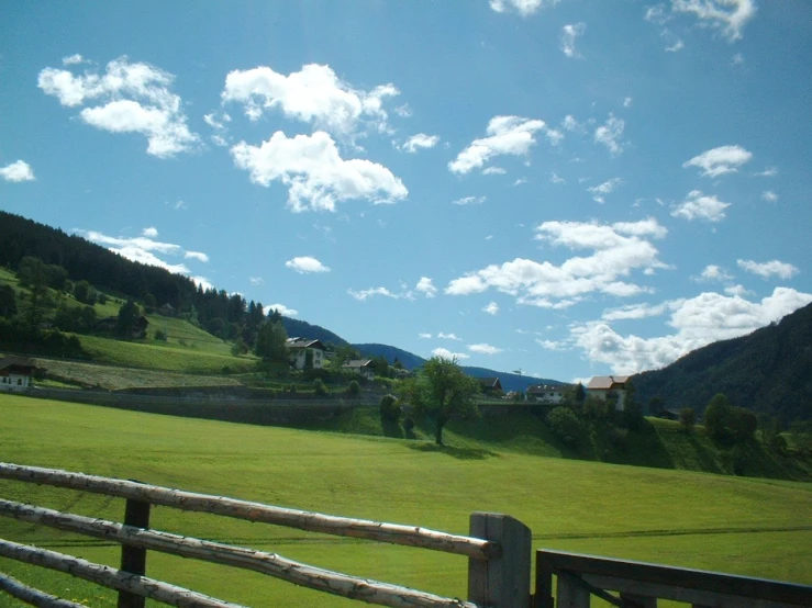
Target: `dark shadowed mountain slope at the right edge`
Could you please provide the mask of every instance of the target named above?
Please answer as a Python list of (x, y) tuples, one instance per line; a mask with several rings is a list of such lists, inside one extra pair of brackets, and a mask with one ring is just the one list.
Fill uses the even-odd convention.
[(789, 423), (812, 419), (812, 304), (753, 334), (708, 345), (632, 378), (636, 398), (704, 410), (716, 393)]

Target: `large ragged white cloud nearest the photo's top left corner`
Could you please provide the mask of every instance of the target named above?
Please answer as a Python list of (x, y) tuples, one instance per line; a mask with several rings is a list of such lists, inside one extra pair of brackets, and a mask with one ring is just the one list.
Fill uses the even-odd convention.
[(180, 97), (169, 90), (173, 80), (173, 75), (159, 68), (120, 57), (107, 65), (102, 76), (45, 68), (37, 86), (69, 108), (101, 100), (102, 105), (79, 113), (85, 123), (111, 133), (140, 133), (147, 138), (147, 154), (169, 158), (200, 144), (186, 124)]

